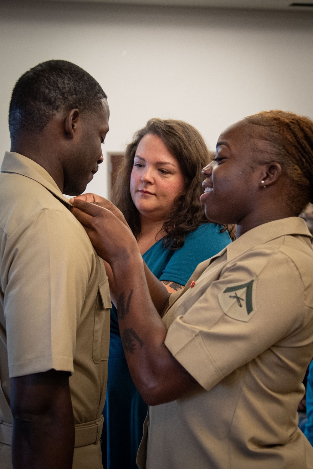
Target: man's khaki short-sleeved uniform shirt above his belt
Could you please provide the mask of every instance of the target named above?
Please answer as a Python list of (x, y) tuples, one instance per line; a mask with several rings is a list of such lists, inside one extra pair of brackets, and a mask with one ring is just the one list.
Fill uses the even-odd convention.
[(7, 152), (0, 174), (0, 422), (9, 377), (52, 368), (70, 378), (75, 424), (101, 416), (110, 295), (103, 262), (52, 177)]

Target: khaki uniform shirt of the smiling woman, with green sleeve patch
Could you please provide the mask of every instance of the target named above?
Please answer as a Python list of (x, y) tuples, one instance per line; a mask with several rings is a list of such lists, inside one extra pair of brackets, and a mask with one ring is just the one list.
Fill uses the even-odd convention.
[(253, 228), (201, 263), (171, 296), (164, 322), (166, 347), (200, 386), (149, 408), (141, 468), (313, 468), (297, 426), (313, 357), (313, 252), (303, 219)]

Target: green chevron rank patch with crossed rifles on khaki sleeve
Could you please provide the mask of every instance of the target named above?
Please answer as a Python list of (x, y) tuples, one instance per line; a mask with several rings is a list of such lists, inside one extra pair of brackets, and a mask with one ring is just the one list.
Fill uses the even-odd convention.
[(255, 280), (239, 285), (228, 285), (219, 295), (218, 300), (224, 313), (239, 321), (249, 321), (255, 313), (253, 293)]

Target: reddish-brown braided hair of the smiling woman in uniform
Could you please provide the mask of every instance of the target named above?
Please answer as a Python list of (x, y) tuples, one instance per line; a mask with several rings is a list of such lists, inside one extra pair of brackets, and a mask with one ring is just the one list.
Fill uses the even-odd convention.
[[(258, 138), (266, 140), (273, 150), (266, 153), (266, 163), (276, 161), (282, 166), (291, 186), (286, 203), (298, 215), (313, 202), (313, 121), (278, 110), (262, 111), (245, 120), (263, 128)], [(257, 163), (264, 164), (264, 159)]]

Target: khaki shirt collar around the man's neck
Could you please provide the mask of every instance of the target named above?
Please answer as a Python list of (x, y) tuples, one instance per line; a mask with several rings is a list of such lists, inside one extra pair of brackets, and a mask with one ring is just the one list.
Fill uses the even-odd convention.
[(67, 197), (63, 196), (50, 174), (42, 166), (26, 156), (6, 151), (1, 165), (1, 173), (16, 173), (29, 177), (39, 182), (39, 184), (52, 192), (62, 202), (72, 206)]

